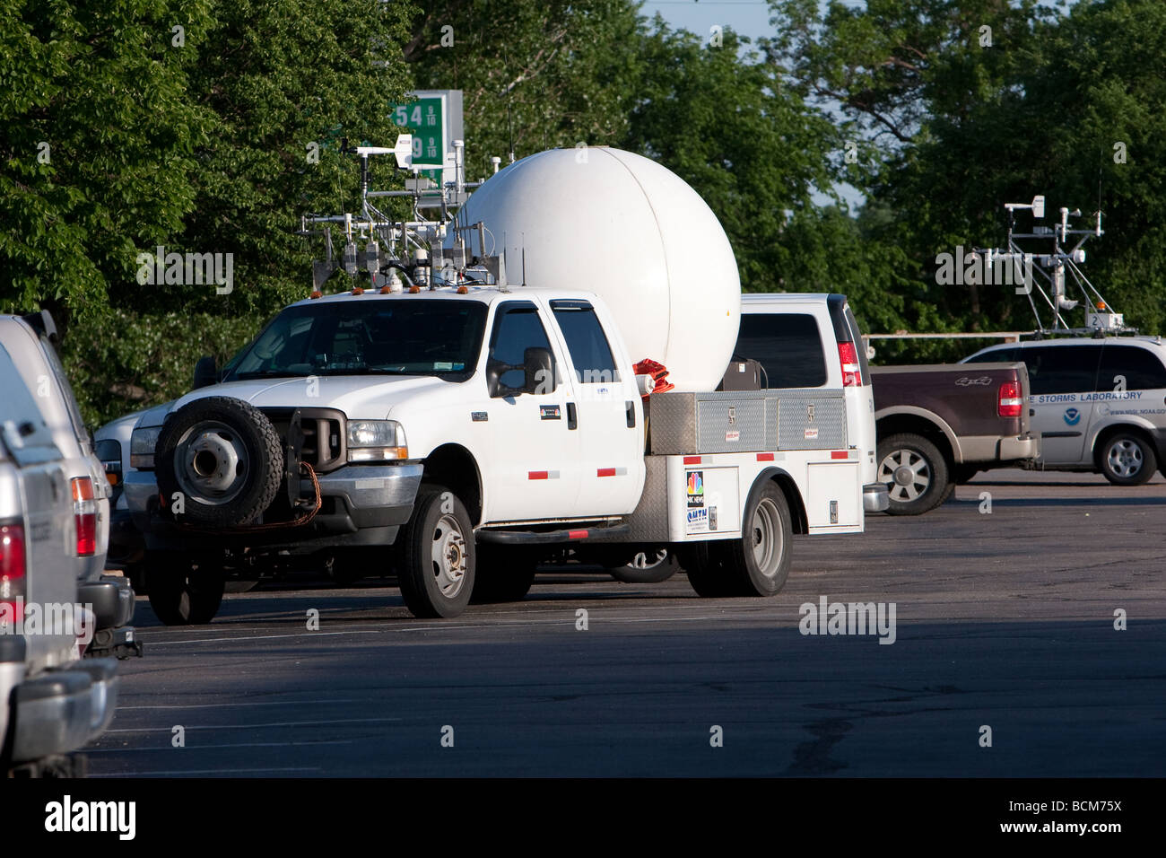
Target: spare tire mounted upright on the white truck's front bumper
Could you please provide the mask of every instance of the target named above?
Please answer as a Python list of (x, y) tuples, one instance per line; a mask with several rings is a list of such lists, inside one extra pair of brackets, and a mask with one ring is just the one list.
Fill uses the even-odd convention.
[[(233, 528), (250, 524), (275, 500), (283, 448), (259, 409), (243, 399), (211, 396), (166, 418), (154, 468), (163, 503), (180, 521)], [(181, 494), (181, 514), (175, 493)]]

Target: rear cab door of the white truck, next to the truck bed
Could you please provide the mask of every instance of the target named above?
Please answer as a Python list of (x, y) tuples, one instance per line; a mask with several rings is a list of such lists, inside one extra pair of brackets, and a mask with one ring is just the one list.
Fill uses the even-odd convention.
[[(644, 482), (640, 393), (619, 371), (604, 326), (590, 301), (552, 300), (574, 385), (574, 423), (580, 435), (578, 515), (624, 515), (635, 509)], [(568, 416), (571, 417), (570, 414)]]

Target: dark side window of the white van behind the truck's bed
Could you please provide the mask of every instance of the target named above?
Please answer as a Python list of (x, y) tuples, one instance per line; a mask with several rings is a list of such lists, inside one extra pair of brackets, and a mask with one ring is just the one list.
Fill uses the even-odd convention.
[(809, 313), (742, 313), (733, 355), (758, 361), (770, 388), (826, 384), (822, 335)]

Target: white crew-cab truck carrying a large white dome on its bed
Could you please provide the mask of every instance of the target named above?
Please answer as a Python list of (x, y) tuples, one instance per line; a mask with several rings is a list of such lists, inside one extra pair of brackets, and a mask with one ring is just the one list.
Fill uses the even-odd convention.
[[(704, 205), (658, 165), (613, 152), (603, 158), (618, 161), (614, 173), (575, 177), (576, 233), (581, 217), (584, 233), (597, 223), (620, 233), (620, 212), (639, 216), (634, 200), (606, 219), (588, 221), (580, 208), (588, 188), (600, 188), (610, 209), (630, 169), (639, 170), (633, 196), (646, 195), (658, 211), (661, 197), (695, 205), (661, 170)], [(539, 170), (515, 169), (522, 165), (482, 191), (500, 236), (518, 232), (513, 221), (500, 228), (507, 198), (540, 217), (514, 193), (515, 182), (520, 190), (542, 184)], [(499, 180), (508, 170), (507, 196)], [(709, 240), (710, 217), (704, 207), (690, 218), (700, 243), (660, 218), (654, 245), (633, 243), (648, 257), (640, 263), (667, 278), (670, 304), (656, 318), (635, 309), (646, 287), (626, 259), (588, 271), (592, 290), (559, 285), (577, 284), (577, 273), (540, 272), (538, 251), (553, 239), (532, 236), (531, 223), (524, 280), (548, 285), (512, 287), (505, 275), (472, 284), (464, 268), (461, 282), (441, 285), (426, 254), (394, 263), (380, 288), (317, 291), (287, 307), (222, 370), (201, 362), (197, 389), (143, 414), (131, 439), (125, 494), (146, 538), (155, 612), (168, 623), (208, 622), (231, 567), (310, 556), (392, 568), (415, 615), (455, 616), (471, 595), (522, 598), (541, 552), (564, 545), (607, 564), (666, 546), (701, 595), (777, 593), (793, 533), (863, 530), (866, 453), (848, 435), (841, 386), (859, 368), (840, 354), (852, 365), (834, 368), (837, 388), (712, 391), (736, 342), (740, 300), (715, 218), (724, 250)], [(626, 238), (591, 239), (580, 246), (626, 246)], [(703, 288), (710, 274), (701, 266), (684, 274), (683, 253), (705, 263), (712, 253), (722, 282)], [(570, 260), (562, 270), (580, 271)], [(623, 288), (612, 290), (612, 272)], [(679, 288), (682, 274), (695, 290)], [(682, 323), (686, 313), (695, 327)], [(660, 340), (667, 365), (683, 368), (677, 388), (695, 389), (651, 392), (633, 364), (645, 355), (627, 342), (645, 337)]]

